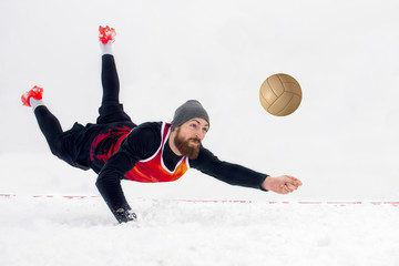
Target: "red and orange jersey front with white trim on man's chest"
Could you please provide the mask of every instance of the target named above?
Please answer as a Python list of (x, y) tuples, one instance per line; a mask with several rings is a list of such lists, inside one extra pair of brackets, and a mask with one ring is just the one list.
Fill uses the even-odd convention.
[(131, 181), (154, 183), (176, 181), (190, 168), (188, 157), (183, 156), (176, 164), (174, 171), (170, 171), (163, 160), (165, 143), (171, 134), (171, 124), (162, 123), (161, 145), (149, 158), (139, 161), (135, 166), (125, 174)]

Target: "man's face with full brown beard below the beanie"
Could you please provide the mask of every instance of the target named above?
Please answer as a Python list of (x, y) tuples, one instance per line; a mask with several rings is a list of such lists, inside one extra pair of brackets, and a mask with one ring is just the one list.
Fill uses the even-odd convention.
[(209, 124), (204, 119), (192, 119), (176, 129), (174, 144), (182, 155), (194, 160), (198, 156), (201, 142), (208, 129)]

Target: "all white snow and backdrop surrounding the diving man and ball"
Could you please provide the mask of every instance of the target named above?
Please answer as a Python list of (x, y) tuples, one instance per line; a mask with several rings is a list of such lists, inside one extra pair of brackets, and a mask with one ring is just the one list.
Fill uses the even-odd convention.
[[(399, 265), (398, 206), (370, 204), (399, 201), (398, 8), (395, 0), (2, 0), (0, 194), (16, 196), (0, 196), (0, 265)], [(141, 219), (115, 224), (95, 174), (52, 156), (20, 103), (40, 85), (65, 130), (95, 121), (99, 24), (116, 29), (121, 99), (136, 123), (171, 121), (197, 99), (211, 116), (204, 145), (221, 160), (304, 186), (280, 196), (195, 171), (171, 184), (124, 182)], [(274, 73), (303, 88), (287, 117), (259, 104)], [(297, 204), (319, 201), (365, 204)]]

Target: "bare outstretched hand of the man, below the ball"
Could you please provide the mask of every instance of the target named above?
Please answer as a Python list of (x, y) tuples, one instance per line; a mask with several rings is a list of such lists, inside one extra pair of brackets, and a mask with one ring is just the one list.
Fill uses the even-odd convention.
[(267, 176), (262, 183), (262, 187), (267, 191), (273, 191), (278, 194), (288, 194), (301, 186), (301, 182), (289, 175), (282, 175), (278, 177)]

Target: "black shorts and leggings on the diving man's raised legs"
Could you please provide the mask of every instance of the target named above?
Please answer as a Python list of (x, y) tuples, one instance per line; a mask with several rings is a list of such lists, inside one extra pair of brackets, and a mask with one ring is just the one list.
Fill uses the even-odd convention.
[(135, 126), (130, 116), (123, 111), (123, 105), (119, 102), (120, 82), (114, 57), (111, 54), (102, 57), (101, 81), (103, 96), (96, 124), (83, 126), (75, 123), (71, 130), (64, 132), (59, 120), (44, 105), (34, 110), (39, 127), (51, 152), (70, 165), (82, 170), (89, 170), (85, 158), (86, 152), (83, 150), (88, 146), (88, 142), (92, 140), (95, 127), (100, 129), (101, 125), (112, 123), (125, 123), (130, 127)]

